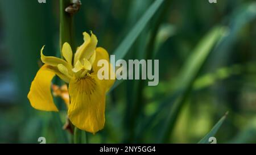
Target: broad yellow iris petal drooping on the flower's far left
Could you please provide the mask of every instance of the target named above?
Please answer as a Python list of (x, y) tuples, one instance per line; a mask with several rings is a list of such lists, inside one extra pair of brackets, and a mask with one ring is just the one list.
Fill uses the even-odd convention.
[(47, 65), (38, 70), (27, 95), (32, 107), (44, 111), (58, 111), (51, 94), (51, 81), (54, 76), (55, 73), (47, 69)]

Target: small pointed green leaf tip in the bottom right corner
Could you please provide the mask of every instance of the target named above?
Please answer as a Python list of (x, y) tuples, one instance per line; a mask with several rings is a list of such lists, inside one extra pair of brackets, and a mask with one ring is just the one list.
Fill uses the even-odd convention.
[(226, 112), (226, 114), (214, 125), (214, 127), (210, 130), (210, 132), (205, 137), (203, 137), (203, 139), (199, 141), (198, 144), (209, 144), (210, 143), (209, 138), (216, 135), (218, 129), (221, 127), (227, 115), (228, 115), (228, 112)]

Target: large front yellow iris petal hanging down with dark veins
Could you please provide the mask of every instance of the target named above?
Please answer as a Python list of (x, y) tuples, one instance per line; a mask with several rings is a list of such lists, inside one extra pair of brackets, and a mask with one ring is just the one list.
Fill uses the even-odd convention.
[(69, 82), (69, 120), (82, 130), (96, 133), (105, 124), (105, 88), (97, 77), (73, 78)]

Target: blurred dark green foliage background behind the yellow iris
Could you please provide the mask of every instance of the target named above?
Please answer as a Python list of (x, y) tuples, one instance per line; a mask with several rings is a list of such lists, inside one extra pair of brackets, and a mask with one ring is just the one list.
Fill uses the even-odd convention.
[[(110, 54), (154, 3), (81, 2), (76, 46), (92, 30)], [(197, 143), (226, 111), (217, 143), (256, 143), (255, 1), (163, 3), (124, 57), (158, 59), (159, 85), (118, 82), (107, 96), (105, 128), (89, 134), (89, 143)], [(37, 111), (27, 99), (42, 46), (48, 56), (60, 53), (59, 21), (59, 1), (0, 1), (0, 143), (39, 143), (42, 136), (46, 143), (71, 143), (61, 129), (65, 108)]]

